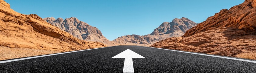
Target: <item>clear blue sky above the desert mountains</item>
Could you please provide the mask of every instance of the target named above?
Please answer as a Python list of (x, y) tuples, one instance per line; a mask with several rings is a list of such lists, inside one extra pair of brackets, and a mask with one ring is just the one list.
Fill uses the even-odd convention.
[(186, 17), (201, 23), (221, 9), (244, 0), (5, 0), (22, 14), (54, 18), (77, 17), (97, 27), (103, 35), (146, 35), (163, 22)]

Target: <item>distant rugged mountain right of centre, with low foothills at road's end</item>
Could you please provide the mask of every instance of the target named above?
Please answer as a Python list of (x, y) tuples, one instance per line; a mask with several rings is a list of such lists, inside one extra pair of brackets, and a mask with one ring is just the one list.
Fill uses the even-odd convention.
[(182, 17), (181, 19), (175, 18), (170, 23), (164, 22), (157, 27), (152, 33), (144, 36), (139, 35), (126, 35), (118, 37), (112, 42), (118, 45), (140, 45), (150, 46), (155, 42), (164, 40), (170, 37), (182, 36), (187, 30), (196, 26), (197, 23)]

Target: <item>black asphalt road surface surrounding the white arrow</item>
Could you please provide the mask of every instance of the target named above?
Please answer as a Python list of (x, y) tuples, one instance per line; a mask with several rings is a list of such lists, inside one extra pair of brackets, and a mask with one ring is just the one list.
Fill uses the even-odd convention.
[[(142, 46), (114, 46), (0, 63), (1, 73), (122, 73), (124, 58), (112, 58), (130, 49), (145, 58), (133, 58), (135, 73), (231, 72), (256, 73), (256, 63)], [(253, 60), (252, 60), (253, 61)]]

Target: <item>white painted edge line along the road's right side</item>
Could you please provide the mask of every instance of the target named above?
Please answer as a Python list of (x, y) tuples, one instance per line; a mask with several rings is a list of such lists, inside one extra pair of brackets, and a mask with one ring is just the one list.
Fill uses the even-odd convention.
[[(155, 47), (150, 47), (150, 48), (155, 48)], [(163, 48), (157, 48), (157, 49), (163, 49)], [(170, 50), (170, 49), (163, 49), (163, 50)], [(204, 55), (204, 56), (219, 57), (219, 58), (225, 58), (225, 59), (231, 59), (231, 60), (237, 60), (237, 61), (246, 61), (246, 62), (256, 63), (256, 61), (244, 60), (244, 59), (238, 59), (238, 58), (231, 58), (231, 57), (222, 57), (222, 56), (215, 56), (215, 55), (209, 55), (209, 54), (199, 54), (199, 53), (192, 53), (192, 52), (185, 52), (185, 51), (178, 51), (178, 50), (171, 50), (171, 51), (177, 51), (177, 52), (183, 52), (183, 53), (189, 53), (189, 54), (198, 54), (198, 55)]]

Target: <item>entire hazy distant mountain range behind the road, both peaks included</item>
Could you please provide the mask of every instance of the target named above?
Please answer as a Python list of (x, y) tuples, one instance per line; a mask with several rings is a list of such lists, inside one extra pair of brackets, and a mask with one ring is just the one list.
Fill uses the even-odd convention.
[[(75, 17), (70, 17), (66, 19), (62, 19), (62, 18), (55, 19), (53, 17), (47, 17), (47, 18), (44, 18), (44, 20), (81, 40), (94, 41), (94, 42), (97, 41), (97, 42), (107, 44), (108, 46), (114, 46), (114, 45), (150, 46), (157, 41), (160, 41), (169, 37), (182, 36), (186, 32), (186, 30), (197, 25), (197, 23), (189, 20), (188, 18), (185, 18), (185, 17), (182, 17), (181, 19), (176, 18), (176, 19), (173, 19), (172, 22), (170, 22), (171, 24), (169, 22), (162, 23), (158, 28), (156, 28), (150, 34), (143, 35), (143, 36), (139, 36), (136, 34), (125, 35), (110, 41), (102, 35), (99, 29), (97, 29), (96, 27), (92, 27), (85, 22), (79, 21)], [(84, 29), (87, 29), (87, 30), (83, 30), (82, 28), (80, 28), (79, 27), (80, 25), (86, 25), (87, 27), (85, 27)], [(189, 28), (187, 28), (187, 26)], [(96, 33), (87, 32), (87, 31), (96, 31)]]

